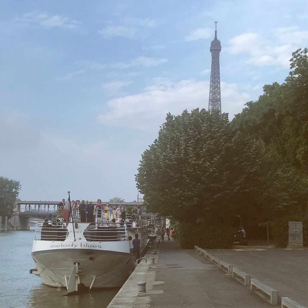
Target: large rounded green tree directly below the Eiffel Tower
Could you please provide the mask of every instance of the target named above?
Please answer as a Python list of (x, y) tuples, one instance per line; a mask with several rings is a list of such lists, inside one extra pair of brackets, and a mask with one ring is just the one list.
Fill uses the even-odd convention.
[(263, 142), (235, 133), (227, 114), (169, 113), (142, 155), (137, 187), (148, 211), (179, 221), (213, 221), (241, 206), (257, 212), (263, 157)]

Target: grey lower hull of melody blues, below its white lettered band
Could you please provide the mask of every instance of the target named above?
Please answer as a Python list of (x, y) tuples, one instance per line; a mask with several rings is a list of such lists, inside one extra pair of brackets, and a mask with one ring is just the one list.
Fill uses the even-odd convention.
[(93, 249), (61, 249), (32, 253), (37, 273), (45, 285), (67, 287), (67, 281), (79, 263), (80, 283), (90, 288), (120, 287), (132, 273), (134, 257), (129, 253)]

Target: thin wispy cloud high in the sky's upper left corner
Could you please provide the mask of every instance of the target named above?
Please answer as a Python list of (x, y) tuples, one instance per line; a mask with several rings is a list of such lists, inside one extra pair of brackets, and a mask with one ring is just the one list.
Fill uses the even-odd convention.
[(21, 18), (15, 18), (14, 21), (22, 26), (43, 26), (45, 28), (75, 29), (80, 25), (80, 22), (74, 19), (39, 12), (25, 13)]

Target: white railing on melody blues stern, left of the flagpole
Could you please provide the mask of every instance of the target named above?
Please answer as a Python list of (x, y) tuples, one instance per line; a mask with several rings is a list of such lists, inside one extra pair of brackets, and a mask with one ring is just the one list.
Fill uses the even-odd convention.
[(34, 240), (65, 241), (68, 231), (63, 222), (38, 222), (36, 224)]

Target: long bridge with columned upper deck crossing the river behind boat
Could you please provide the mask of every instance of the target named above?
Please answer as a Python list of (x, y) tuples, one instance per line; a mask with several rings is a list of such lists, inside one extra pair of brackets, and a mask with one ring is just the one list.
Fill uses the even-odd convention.
[[(30, 221), (33, 218), (50, 220), (56, 219), (58, 204), (61, 201), (21, 201), (15, 202), (14, 213), (11, 218), (4, 217), (2, 225), (2, 217), (0, 217), (0, 231), (4, 230), (30, 230)], [(125, 206), (143, 206), (143, 202), (109, 202), (102, 201), (102, 204), (109, 203), (109, 205), (118, 207)], [(93, 202), (95, 205), (96, 202)]]

